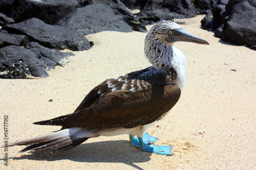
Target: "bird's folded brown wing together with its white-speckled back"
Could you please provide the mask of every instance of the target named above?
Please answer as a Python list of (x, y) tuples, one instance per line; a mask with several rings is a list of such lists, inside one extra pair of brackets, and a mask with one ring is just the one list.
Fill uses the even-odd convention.
[(166, 85), (166, 72), (148, 67), (95, 87), (74, 113), (37, 122), (38, 125), (59, 125), (63, 129), (133, 128), (155, 122), (180, 98), (180, 89)]

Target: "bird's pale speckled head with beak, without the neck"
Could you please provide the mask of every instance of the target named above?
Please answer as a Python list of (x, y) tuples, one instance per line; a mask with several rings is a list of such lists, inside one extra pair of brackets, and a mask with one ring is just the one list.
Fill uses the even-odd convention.
[(209, 44), (207, 41), (187, 33), (177, 23), (169, 20), (161, 20), (148, 31), (146, 41), (158, 41), (166, 46), (172, 46), (177, 41)]

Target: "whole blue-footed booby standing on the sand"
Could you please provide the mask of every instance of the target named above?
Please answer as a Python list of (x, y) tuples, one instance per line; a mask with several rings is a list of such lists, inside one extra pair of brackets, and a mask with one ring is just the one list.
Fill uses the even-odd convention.
[(144, 132), (162, 119), (180, 98), (186, 59), (173, 46), (177, 41), (209, 44), (188, 34), (173, 21), (155, 23), (144, 44), (151, 67), (105, 80), (89, 92), (72, 114), (34, 123), (62, 126), (59, 131), (9, 143), (9, 147), (29, 145), (19, 153), (60, 152), (92, 137), (129, 134), (132, 145), (141, 151), (172, 155), (171, 146), (155, 146), (157, 138)]

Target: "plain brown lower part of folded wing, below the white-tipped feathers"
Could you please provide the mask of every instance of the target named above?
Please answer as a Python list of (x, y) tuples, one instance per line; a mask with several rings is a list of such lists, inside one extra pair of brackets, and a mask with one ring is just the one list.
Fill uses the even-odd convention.
[(110, 92), (90, 107), (66, 116), (62, 128), (133, 128), (147, 125), (169, 111), (178, 102), (180, 93), (180, 88), (175, 85), (139, 92)]

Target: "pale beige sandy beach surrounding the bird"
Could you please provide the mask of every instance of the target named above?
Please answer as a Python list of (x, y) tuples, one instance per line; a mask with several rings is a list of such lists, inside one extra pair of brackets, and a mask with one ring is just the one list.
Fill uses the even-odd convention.
[[(132, 147), (128, 135), (120, 135), (91, 138), (57, 154), (16, 154), (25, 147), (11, 147), (8, 168), (256, 169), (256, 51), (224, 43), (200, 29), (202, 18), (179, 20), (184, 30), (210, 45), (175, 43), (187, 59), (185, 86), (173, 110), (146, 131), (159, 137), (156, 145), (173, 145), (173, 156), (141, 152)], [(0, 79), (1, 142), (4, 115), (9, 117), (9, 142), (59, 130), (32, 123), (72, 113), (105, 79), (150, 66), (143, 54), (145, 35), (88, 35), (95, 42), (93, 48), (75, 52), (46, 79)], [(4, 149), (0, 153), (0, 168), (7, 168)]]

